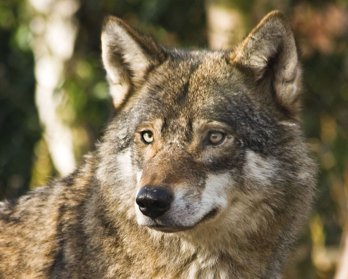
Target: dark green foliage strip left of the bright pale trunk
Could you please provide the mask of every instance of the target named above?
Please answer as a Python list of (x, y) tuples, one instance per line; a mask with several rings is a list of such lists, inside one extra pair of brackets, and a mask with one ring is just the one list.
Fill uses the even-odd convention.
[(9, 198), (28, 189), (33, 148), (41, 137), (23, 2), (0, 3), (0, 196)]

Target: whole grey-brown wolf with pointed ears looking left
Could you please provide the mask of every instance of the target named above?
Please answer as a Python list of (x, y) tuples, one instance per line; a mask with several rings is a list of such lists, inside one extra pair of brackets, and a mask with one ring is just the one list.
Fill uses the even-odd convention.
[(108, 17), (114, 115), (62, 179), (0, 205), (1, 278), (283, 278), (313, 202), (285, 16), (235, 50), (182, 50)]

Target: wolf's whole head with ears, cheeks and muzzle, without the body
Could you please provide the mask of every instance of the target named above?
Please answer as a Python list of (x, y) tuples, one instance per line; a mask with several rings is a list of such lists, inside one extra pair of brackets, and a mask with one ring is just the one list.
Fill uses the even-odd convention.
[(298, 52), (280, 12), (233, 51), (167, 48), (109, 17), (102, 59), (115, 116), (97, 178), (112, 218), (163, 232), (296, 231), (315, 168), (299, 121)]

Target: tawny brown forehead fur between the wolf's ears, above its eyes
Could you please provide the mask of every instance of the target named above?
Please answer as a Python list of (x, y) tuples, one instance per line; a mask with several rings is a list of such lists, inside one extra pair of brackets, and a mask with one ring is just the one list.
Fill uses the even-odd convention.
[(238, 82), (238, 71), (224, 56), (225, 52), (176, 50), (149, 73), (140, 91), (141, 100), (138, 96), (135, 100), (147, 108), (153, 106), (155, 115), (174, 116), (173, 109), (178, 108), (175, 113), (181, 116), (210, 118), (209, 110), (224, 96), (246, 91), (244, 83)]

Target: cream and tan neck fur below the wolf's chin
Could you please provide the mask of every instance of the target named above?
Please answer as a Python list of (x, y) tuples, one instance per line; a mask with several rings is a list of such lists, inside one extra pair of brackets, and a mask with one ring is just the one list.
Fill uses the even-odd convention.
[[(248, 247), (253, 244), (233, 237), (204, 236), (204, 231), (201, 236), (194, 232), (161, 233), (136, 223), (122, 226), (119, 232), (120, 238), (125, 238), (123, 249), (133, 259), (130, 265), (138, 266), (134, 270), (140, 271), (134, 278), (255, 279), (262, 278), (260, 274), (264, 273), (269, 259), (267, 251), (260, 253), (259, 247)], [(201, 241), (203, 237), (211, 241)]]

